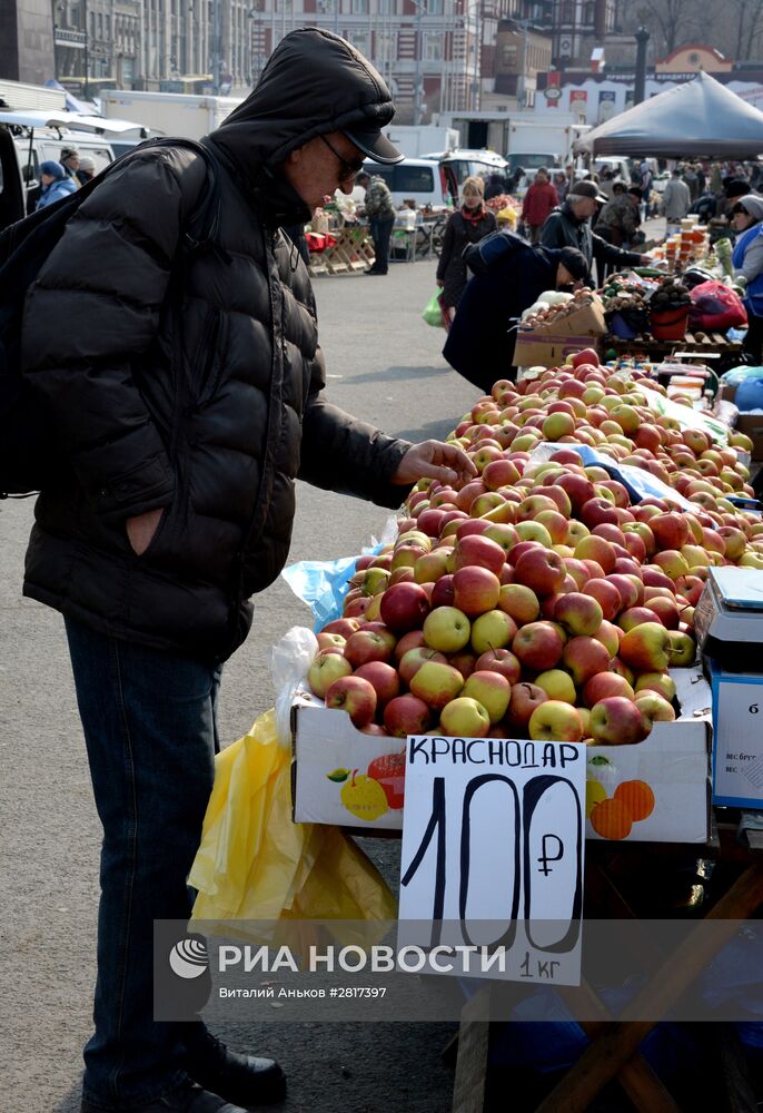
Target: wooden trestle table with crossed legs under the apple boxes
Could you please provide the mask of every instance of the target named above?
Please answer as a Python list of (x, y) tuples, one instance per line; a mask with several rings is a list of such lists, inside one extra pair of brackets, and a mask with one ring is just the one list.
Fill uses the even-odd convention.
[[(618, 909), (616, 918), (634, 917), (627, 899), (620, 890), (616, 876), (608, 867), (615, 853), (627, 855), (628, 848), (653, 853), (658, 859), (687, 850), (697, 857), (716, 858), (724, 864), (739, 864), (740, 873), (729, 884), (710, 912), (697, 919), (704, 928), (692, 932), (690, 944), (682, 949), (680, 963), (670, 955), (662, 957), (656, 972), (647, 979), (621, 1018), (613, 1020), (606, 1005), (584, 981), (578, 987), (556, 987), (562, 999), (573, 1011), (575, 1004), (585, 1003), (588, 1015), (597, 1013), (595, 1021), (578, 1021), (589, 1037), (589, 1044), (579, 1058), (564, 1073), (561, 1081), (535, 1106), (535, 1113), (583, 1113), (607, 1083), (616, 1080), (638, 1113), (680, 1113), (680, 1106), (640, 1053), (640, 1046), (686, 992), (711, 959), (739, 932), (741, 920), (752, 918), (763, 907), (763, 831), (737, 830), (730, 824), (719, 824), (713, 843), (708, 846), (692, 844), (618, 844), (589, 841), (586, 847), (586, 888), (588, 874), (592, 881), (608, 892), (611, 902)], [(710, 925), (713, 930), (707, 930)], [(654, 958), (648, 935), (644, 935), (644, 954)], [(654, 963), (653, 963), (654, 965)], [(458, 1056), (454, 1085), (453, 1113), (483, 1113), (490, 1030), (490, 994), (488, 983), (472, 997), (462, 1011), (458, 1032)], [(642, 1016), (648, 1002), (650, 1015)], [(631, 1018), (628, 1018), (631, 1017)], [(743, 1061), (733, 1044), (721, 1042), (724, 1080), (727, 1086), (727, 1109), (739, 1113), (754, 1113), (756, 1109), (749, 1086)], [(710, 1106), (707, 1106), (710, 1109)], [(509, 1105), (506, 1105), (509, 1109)]]

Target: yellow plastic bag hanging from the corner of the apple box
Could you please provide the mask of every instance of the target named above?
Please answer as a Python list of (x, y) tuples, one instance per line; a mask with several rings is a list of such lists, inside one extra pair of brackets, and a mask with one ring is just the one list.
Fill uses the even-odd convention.
[[(395, 898), (338, 828), (291, 820), (291, 754), (276, 715), (218, 754), (188, 878), (199, 920), (393, 920)], [(197, 925), (197, 929), (200, 929)]]

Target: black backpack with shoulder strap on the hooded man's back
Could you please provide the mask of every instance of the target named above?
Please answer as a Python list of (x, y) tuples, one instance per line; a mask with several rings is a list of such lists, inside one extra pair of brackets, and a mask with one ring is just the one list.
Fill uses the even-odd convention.
[(53, 474), (56, 434), (21, 374), (21, 324), (28, 288), (82, 201), (116, 167), (147, 147), (189, 147), (207, 165), (208, 187), (188, 219), (178, 247), (188, 255), (214, 245), (219, 226), (219, 181), (211, 151), (192, 139), (150, 139), (122, 155), (76, 193), (38, 209), (0, 233), (0, 499), (39, 491)]

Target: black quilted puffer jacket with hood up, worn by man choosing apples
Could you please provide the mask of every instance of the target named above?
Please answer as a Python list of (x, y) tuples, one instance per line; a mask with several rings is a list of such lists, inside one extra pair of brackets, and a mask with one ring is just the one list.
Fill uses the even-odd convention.
[[(297, 476), (398, 505), (407, 489), (390, 480), (409, 445), (325, 397), (309, 278), (279, 232), (309, 216), (279, 173), (289, 151), (393, 112), (349, 43), (295, 31), (204, 140), (219, 186), (211, 246), (179, 249), (207, 188), (205, 160), (180, 146), (139, 148), (80, 206), (24, 314), (24, 372), (60, 462), (37, 502), (26, 594), (221, 661), (284, 565)], [(125, 521), (158, 508), (136, 555)]]

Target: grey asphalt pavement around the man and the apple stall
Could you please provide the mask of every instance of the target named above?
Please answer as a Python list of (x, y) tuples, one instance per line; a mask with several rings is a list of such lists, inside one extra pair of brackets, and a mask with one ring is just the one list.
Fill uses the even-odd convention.
[[(440, 356), (444, 334), (420, 309), (434, 264), (387, 277), (318, 278), (328, 394), (389, 433), (442, 436), (477, 391)], [(501, 377), (496, 368), (495, 377)], [(100, 831), (60, 615), (21, 597), (32, 500), (0, 503), (0, 1107), (79, 1111), (90, 1033)], [(358, 552), (387, 512), (300, 484), (290, 560)], [(252, 632), (226, 668), (220, 731), (244, 733), (274, 700), (266, 652), (308, 609), (278, 580), (257, 600)], [(364, 840), (396, 884), (398, 844)], [(229, 1024), (232, 1046), (277, 1056), (284, 1113), (445, 1113), (453, 1024)]]

